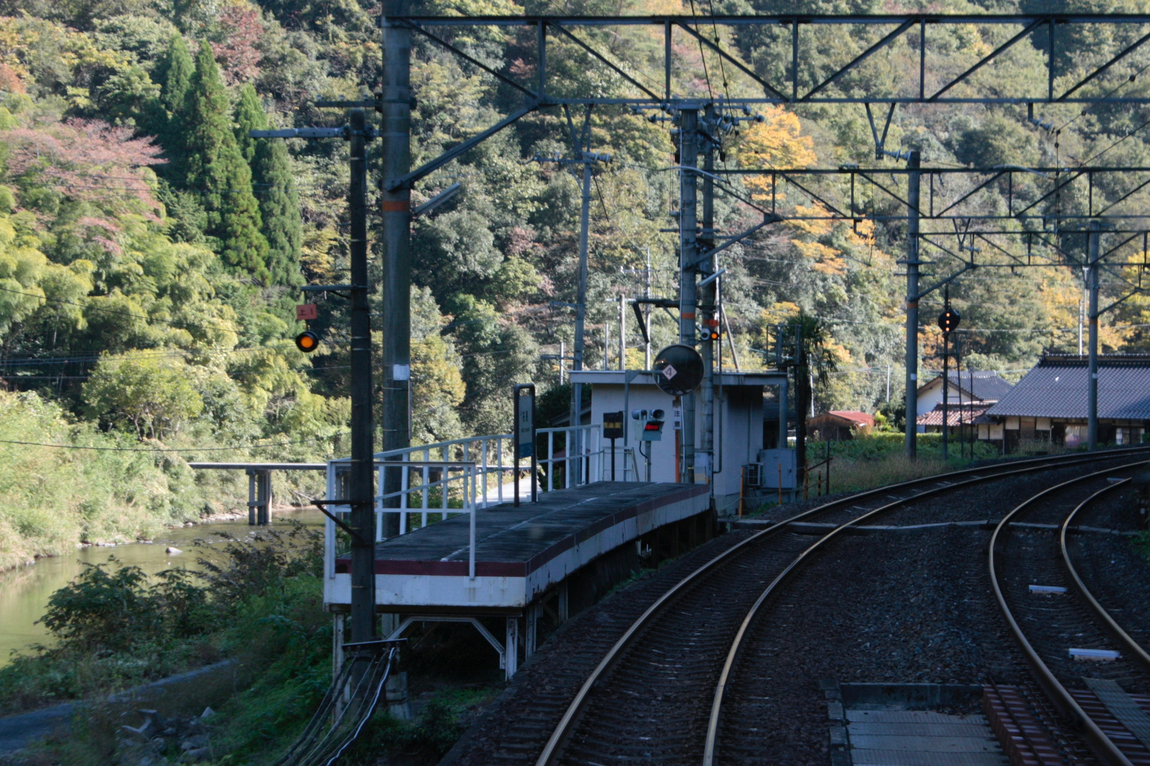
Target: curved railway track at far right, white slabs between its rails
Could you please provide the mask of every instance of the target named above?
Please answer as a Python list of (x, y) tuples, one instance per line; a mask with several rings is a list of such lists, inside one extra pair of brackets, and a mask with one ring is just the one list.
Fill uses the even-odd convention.
[(1033, 675), (1110, 766), (1150, 765), (1150, 655), (1087, 587), (1070, 533), (1086, 509), (1128, 481), (1114, 473), (1147, 463), (1027, 498), (999, 521), (988, 552), (995, 598)]

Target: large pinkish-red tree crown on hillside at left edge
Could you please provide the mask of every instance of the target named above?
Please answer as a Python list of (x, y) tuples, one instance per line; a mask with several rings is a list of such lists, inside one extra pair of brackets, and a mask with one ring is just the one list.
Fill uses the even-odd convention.
[[(132, 138), (132, 133), (131, 127), (113, 127), (99, 119), (69, 119), (0, 131), (0, 140), (12, 147), (10, 176), (36, 176), (72, 199), (108, 211), (124, 209), (125, 198), (133, 198), (158, 219), (152, 211), (160, 203), (140, 169), (163, 162), (159, 158), (162, 149), (151, 138)], [(107, 227), (107, 223), (100, 225)]]

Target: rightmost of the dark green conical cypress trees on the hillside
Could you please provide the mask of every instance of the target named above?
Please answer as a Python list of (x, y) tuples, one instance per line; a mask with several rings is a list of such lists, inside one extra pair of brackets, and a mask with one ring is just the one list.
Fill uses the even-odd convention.
[(271, 284), (298, 287), (304, 284), (299, 270), (302, 222), (299, 193), (291, 172), (288, 146), (281, 140), (256, 140), (250, 130), (266, 130), (268, 117), (255, 88), (247, 83), (236, 108), (236, 144), (252, 168), (252, 184), (260, 203), (261, 231), (268, 240), (268, 271)]

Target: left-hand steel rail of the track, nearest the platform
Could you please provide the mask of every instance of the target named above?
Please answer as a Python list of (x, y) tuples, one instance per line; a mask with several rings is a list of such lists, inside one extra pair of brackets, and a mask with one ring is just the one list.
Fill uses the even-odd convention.
[[(623, 635), (619, 637), (619, 640), (612, 645), (612, 648), (607, 651), (607, 653), (604, 655), (604, 657), (599, 661), (599, 664), (596, 665), (595, 670), (591, 671), (590, 675), (588, 675), (586, 680), (583, 682), (583, 686), (580, 687), (580, 690), (576, 693), (575, 698), (572, 699), (570, 704), (567, 706), (567, 710), (564, 712), (564, 717), (560, 719), (559, 724), (555, 726), (554, 730), (551, 734), (551, 737), (547, 740), (546, 745), (544, 745), (543, 752), (540, 752), (539, 757), (536, 759), (536, 766), (549, 766), (555, 759), (555, 757), (559, 755), (560, 746), (564, 744), (564, 742), (566, 741), (567, 736), (570, 734), (570, 732), (572, 732), (572, 729), (574, 727), (574, 724), (576, 722), (576, 719), (577, 719), (578, 714), (582, 712), (584, 705), (586, 704), (586, 701), (588, 701), (588, 697), (590, 696), (591, 689), (599, 682), (599, 680), (615, 664), (615, 661), (621, 658), (623, 650), (627, 649), (630, 645), (631, 641), (634, 641), (635, 637), (637, 636), (637, 634), (643, 628), (646, 627), (647, 622), (658, 612), (660, 612), (662, 610), (662, 608), (665, 608), (675, 597), (677, 597), (683, 591), (685, 591), (685, 589), (689, 586), (695, 585), (696, 581), (698, 581), (704, 574), (710, 573), (711, 571), (713, 571), (714, 568), (716, 568), (719, 565), (724, 564), (728, 560), (730, 560), (735, 556), (736, 552), (745, 552), (749, 549), (749, 547), (751, 546), (751, 543), (753, 543), (756, 541), (759, 541), (759, 540), (762, 540), (764, 537), (766, 537), (768, 535), (772, 535), (775, 532), (779, 532), (780, 529), (784, 528), (787, 525), (792, 524), (792, 523), (798, 521), (798, 520), (802, 520), (802, 519), (804, 519), (804, 518), (806, 518), (808, 516), (813, 516), (815, 513), (821, 513), (823, 511), (828, 511), (830, 509), (838, 508), (838, 506), (845, 505), (848, 503), (854, 503), (854, 502), (858, 502), (861, 498), (871, 497), (871, 496), (877, 495), (880, 493), (889, 493), (891, 490), (897, 490), (897, 489), (900, 489), (900, 488), (914, 487), (914, 486), (928, 483), (928, 482), (931, 482), (931, 481), (944, 480), (944, 479), (946, 479), (949, 477), (959, 477), (959, 475), (966, 475), (966, 474), (980, 473), (980, 472), (987, 472), (987, 471), (997, 471), (998, 469), (1002, 469), (1002, 467), (1013, 469), (1014, 466), (1030, 465), (1030, 464), (1035, 464), (1035, 463), (1042, 463), (1042, 464), (1044, 464), (1044, 466), (1049, 466), (1049, 467), (1058, 467), (1058, 466), (1063, 466), (1063, 465), (1076, 465), (1080, 462), (1096, 461), (1096, 459), (1098, 459), (1098, 455), (1099, 454), (1103, 454), (1103, 455), (1106, 455), (1106, 454), (1116, 455), (1117, 454), (1118, 456), (1121, 456), (1121, 455), (1126, 455), (1126, 454), (1130, 454), (1130, 452), (1141, 452), (1141, 451), (1144, 451), (1147, 449), (1150, 449), (1150, 447), (1130, 447), (1130, 448), (1119, 448), (1119, 449), (1116, 449), (1116, 450), (1104, 450), (1103, 452), (1091, 452), (1088, 458), (1082, 458), (1082, 456), (1078, 456), (1078, 455), (1059, 456), (1059, 457), (1053, 457), (1053, 458), (1051, 458), (1051, 457), (1036, 457), (1036, 458), (1028, 458), (1028, 459), (1023, 459), (1023, 461), (1011, 461), (1011, 462), (1000, 463), (1000, 464), (997, 464), (997, 465), (983, 465), (983, 466), (973, 467), (973, 469), (961, 469), (959, 471), (949, 471), (946, 473), (937, 473), (937, 474), (934, 474), (931, 477), (923, 477), (921, 479), (911, 479), (910, 481), (900, 481), (898, 483), (887, 485), (884, 487), (877, 487), (875, 489), (867, 489), (867, 490), (861, 492), (861, 493), (856, 493), (856, 494), (852, 494), (852, 495), (848, 495), (845, 497), (831, 501), (829, 503), (823, 503), (822, 505), (819, 505), (819, 506), (813, 508), (811, 510), (803, 511), (800, 513), (796, 513), (795, 516), (792, 516), (792, 517), (790, 517), (788, 519), (784, 519), (782, 521), (779, 521), (776, 524), (770, 525), (769, 527), (767, 527), (766, 529), (762, 529), (761, 532), (757, 532), (756, 534), (751, 535), (746, 540), (744, 540), (744, 541), (742, 541), (739, 543), (736, 543), (735, 546), (731, 546), (730, 548), (728, 548), (723, 552), (719, 554), (718, 556), (715, 556), (714, 558), (712, 558), (710, 562), (703, 564), (697, 570), (695, 570), (693, 572), (691, 572), (690, 574), (688, 574), (685, 578), (683, 578), (682, 580), (680, 580), (678, 582), (676, 582), (674, 586), (670, 587), (670, 589), (667, 590), (667, 593), (665, 593), (653, 604), (651, 604), (646, 609), (646, 611), (644, 611), (638, 617), (638, 619), (636, 619), (635, 622), (632, 622), (630, 625), (630, 627), (627, 628), (627, 632), (623, 633)], [(1068, 458), (1079, 458), (1079, 459), (1068, 459)], [(1103, 458), (1103, 459), (1106, 459), (1106, 458)], [(1002, 474), (996, 473), (995, 475), (1002, 475)], [(984, 477), (986, 480), (990, 480), (992, 478), (994, 477)], [(940, 488), (940, 490), (941, 489), (943, 489), (943, 488)], [(907, 500), (913, 500), (913, 497), (910, 497)]]

